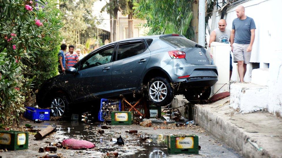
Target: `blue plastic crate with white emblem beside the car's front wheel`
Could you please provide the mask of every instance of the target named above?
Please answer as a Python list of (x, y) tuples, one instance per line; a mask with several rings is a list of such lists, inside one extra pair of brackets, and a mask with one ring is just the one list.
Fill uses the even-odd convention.
[(30, 120), (50, 120), (50, 109), (38, 109), (34, 107), (26, 107), (24, 117)]

